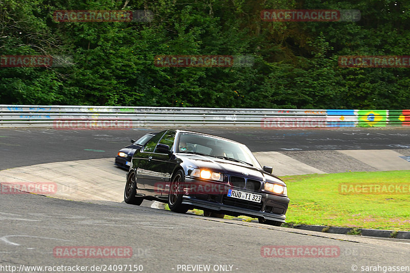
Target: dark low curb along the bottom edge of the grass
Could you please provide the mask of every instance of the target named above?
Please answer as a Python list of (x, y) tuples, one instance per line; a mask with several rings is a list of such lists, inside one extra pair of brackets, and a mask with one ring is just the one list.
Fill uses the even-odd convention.
[(395, 230), (351, 228), (325, 225), (289, 225), (290, 228), (310, 230), (313, 232), (358, 235), (379, 238), (410, 239), (410, 232), (398, 232)]

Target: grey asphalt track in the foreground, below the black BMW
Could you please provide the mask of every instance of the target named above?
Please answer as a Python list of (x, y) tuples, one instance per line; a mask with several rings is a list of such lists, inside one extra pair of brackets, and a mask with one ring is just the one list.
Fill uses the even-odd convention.
[[(20, 264), (136, 264), (144, 266), (143, 272), (181, 272), (178, 265), (209, 264), (233, 265), (233, 272), (352, 272), (353, 265), (409, 265), (410, 245), (402, 242), (31, 194), (5, 195), (0, 203), (7, 208), (0, 213), (2, 264), (17, 268)], [(67, 245), (131, 246), (133, 255), (128, 259), (55, 258), (53, 249)], [(264, 258), (265, 245), (328, 246), (339, 253), (338, 257)]]

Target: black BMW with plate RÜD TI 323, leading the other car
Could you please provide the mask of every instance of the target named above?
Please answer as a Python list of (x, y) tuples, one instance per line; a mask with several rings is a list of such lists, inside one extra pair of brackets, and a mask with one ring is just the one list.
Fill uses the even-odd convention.
[(289, 198), (285, 183), (244, 144), (182, 130), (153, 136), (135, 152), (124, 191), (128, 204), (168, 203), (171, 211), (245, 215), (280, 226)]

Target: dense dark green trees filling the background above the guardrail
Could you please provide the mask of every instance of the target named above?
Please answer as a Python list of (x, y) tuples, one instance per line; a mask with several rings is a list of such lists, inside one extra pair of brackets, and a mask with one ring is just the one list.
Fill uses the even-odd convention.
[[(57, 23), (55, 10), (139, 10), (151, 22)], [(359, 9), (359, 22), (263, 22), (263, 9)], [(1, 68), (0, 104), (408, 109), (410, 68), (340, 68), (406, 55), (404, 0), (0, 0), (1, 55), (71, 55)], [(252, 67), (154, 66), (160, 54), (253, 55)]]

